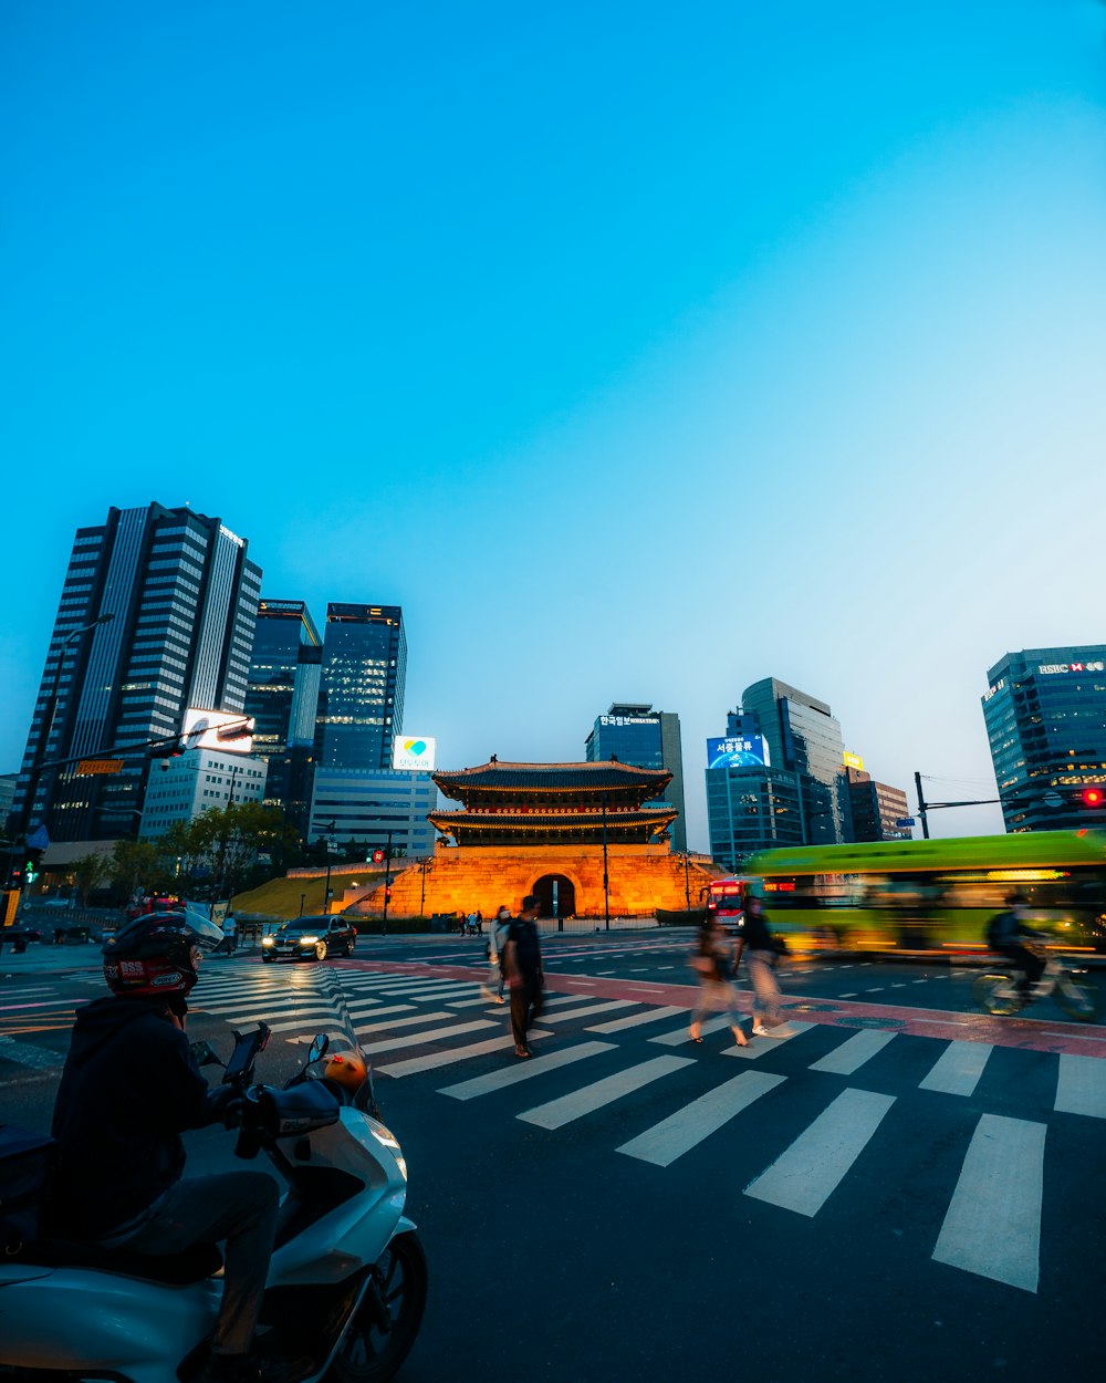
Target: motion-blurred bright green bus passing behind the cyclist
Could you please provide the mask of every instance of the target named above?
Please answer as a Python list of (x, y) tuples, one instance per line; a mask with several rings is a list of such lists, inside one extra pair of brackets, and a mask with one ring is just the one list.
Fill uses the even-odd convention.
[(762, 851), (753, 881), (798, 949), (979, 954), (1018, 892), (1056, 949), (1106, 953), (1106, 831), (1019, 831)]

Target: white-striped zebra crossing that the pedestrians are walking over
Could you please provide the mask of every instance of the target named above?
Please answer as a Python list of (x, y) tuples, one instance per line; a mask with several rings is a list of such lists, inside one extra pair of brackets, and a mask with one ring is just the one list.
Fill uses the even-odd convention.
[[(513, 1043), (506, 1008), (489, 1004), (473, 981), (344, 968), (259, 978), (256, 967), (243, 967), (220, 979), (209, 972), (202, 1007), (231, 1023), (264, 1019), (289, 1041), (308, 1041), (314, 1032), (325, 1030), (328, 1017), (337, 1018), (341, 1011), (379, 1076), (430, 1077), (437, 1095), (462, 1104), (503, 1097), (496, 1108), (510, 1101), (509, 1115), (549, 1131), (601, 1115), (647, 1087), (668, 1090), (671, 1109), (659, 1120), (611, 1145), (614, 1155), (658, 1169), (672, 1167), (730, 1126), (740, 1130), (745, 1111), (787, 1098), (789, 1086), (807, 1072), (863, 1080), (870, 1064), (903, 1051), (903, 1043), (928, 1043), (933, 1059), (926, 1059), (924, 1073), (906, 1094), (917, 1088), (968, 1099), (980, 1088), (994, 1057), (986, 1043), (802, 1022), (791, 1022), (792, 1032), (784, 1039), (756, 1039), (738, 1047), (730, 1044), (727, 1034), (711, 1043), (711, 1034), (726, 1028), (723, 1017), (705, 1022), (702, 1033), (708, 1041), (691, 1047), (684, 1008), (554, 994), (531, 1033), (535, 1055), (516, 1062), (507, 1059)], [(813, 1046), (814, 1033), (821, 1033), (820, 1047), (827, 1034), (835, 1041), (828, 1051), (805, 1059), (803, 1046)], [(550, 1041), (553, 1037), (559, 1039), (556, 1044)], [(719, 1057), (733, 1058), (742, 1069), (722, 1069)], [(1034, 1117), (977, 1116), (955, 1184), (948, 1187), (932, 1257), (1037, 1292), (1048, 1116), (1106, 1119), (1106, 1061), (1040, 1052), (1006, 1052), (1006, 1058), (1052, 1064), (1051, 1108), (1041, 1111), (1038, 1105)], [(788, 1069), (767, 1069), (776, 1065)], [(702, 1076), (704, 1070), (716, 1079), (706, 1090), (701, 1090), (700, 1079), (694, 1086), (700, 1093), (694, 1093), (690, 1077), (694, 1072)], [(816, 1217), (854, 1173), (877, 1134), (893, 1126), (896, 1111), (906, 1101), (906, 1094), (853, 1084), (841, 1088), (841, 1079), (827, 1082), (824, 1094), (824, 1106), (816, 1117), (778, 1149), (744, 1187), (744, 1195)], [(619, 1129), (626, 1133), (629, 1124), (619, 1123)]]

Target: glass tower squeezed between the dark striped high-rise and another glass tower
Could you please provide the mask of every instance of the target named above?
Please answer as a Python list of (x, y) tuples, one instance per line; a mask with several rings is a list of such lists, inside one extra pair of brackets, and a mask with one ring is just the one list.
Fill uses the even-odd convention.
[(246, 715), (253, 752), (265, 759), (264, 801), (307, 835), (315, 762), (322, 643), (303, 600), (263, 600), (253, 635)]

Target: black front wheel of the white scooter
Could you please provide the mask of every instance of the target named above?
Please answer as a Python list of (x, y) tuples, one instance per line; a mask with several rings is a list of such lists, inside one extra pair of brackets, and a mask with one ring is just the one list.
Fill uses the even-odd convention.
[(373, 1268), (376, 1289), (391, 1328), (384, 1332), (375, 1303), (361, 1303), (341, 1340), (325, 1383), (382, 1383), (411, 1353), (426, 1310), (429, 1271), (415, 1231), (397, 1235)]

